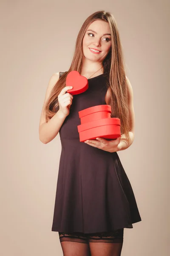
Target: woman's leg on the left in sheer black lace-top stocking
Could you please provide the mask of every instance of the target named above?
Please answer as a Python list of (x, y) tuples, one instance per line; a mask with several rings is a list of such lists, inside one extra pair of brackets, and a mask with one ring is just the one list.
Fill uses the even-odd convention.
[(91, 256), (88, 238), (83, 233), (59, 232), (63, 256)]

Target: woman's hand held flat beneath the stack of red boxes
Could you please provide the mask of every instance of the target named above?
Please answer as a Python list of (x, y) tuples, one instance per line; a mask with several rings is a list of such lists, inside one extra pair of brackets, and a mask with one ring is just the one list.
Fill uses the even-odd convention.
[(116, 140), (105, 140), (103, 138), (96, 138), (96, 140), (86, 140), (85, 143), (95, 148), (99, 148), (113, 153), (120, 150), (120, 139), (121, 137), (118, 137)]

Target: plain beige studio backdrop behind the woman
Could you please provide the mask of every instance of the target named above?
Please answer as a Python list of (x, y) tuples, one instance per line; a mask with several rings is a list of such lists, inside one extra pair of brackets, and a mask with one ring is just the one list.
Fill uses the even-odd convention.
[(0, 255), (62, 256), (51, 231), (61, 145), (59, 134), (40, 142), (40, 113), (82, 23), (103, 9), (118, 24), (136, 114), (135, 140), (119, 157), (142, 221), (125, 229), (122, 256), (169, 255), (168, 2), (1, 0)]

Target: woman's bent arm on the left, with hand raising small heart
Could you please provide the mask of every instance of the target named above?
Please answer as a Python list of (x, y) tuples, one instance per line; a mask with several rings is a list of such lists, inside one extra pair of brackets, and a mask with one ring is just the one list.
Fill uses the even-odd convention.
[(57, 111), (57, 113), (51, 119), (49, 119), (48, 122), (46, 122), (45, 103), (51, 93), (52, 88), (57, 83), (58, 79), (59, 79), (59, 73), (55, 73), (50, 78), (50, 81), (48, 83), (48, 87), (46, 90), (46, 94), (45, 94), (44, 105), (42, 107), (42, 112), (40, 116), (39, 138), (40, 138), (40, 141), (44, 144), (49, 143), (51, 140), (53, 140), (57, 136), (66, 116), (68, 116), (69, 114), (69, 109), (72, 104), (73, 96), (69, 93), (65, 94), (67, 90), (71, 89), (70, 87), (67, 86), (63, 88), (62, 91), (60, 92), (61, 102), (59, 102), (59, 111)]

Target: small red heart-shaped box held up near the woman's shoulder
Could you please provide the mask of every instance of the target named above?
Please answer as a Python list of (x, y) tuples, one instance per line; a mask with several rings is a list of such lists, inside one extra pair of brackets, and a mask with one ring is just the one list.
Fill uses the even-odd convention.
[(66, 86), (72, 86), (73, 89), (68, 90), (68, 93), (76, 95), (84, 93), (88, 89), (88, 79), (85, 76), (81, 76), (76, 70), (68, 73), (66, 77)]

